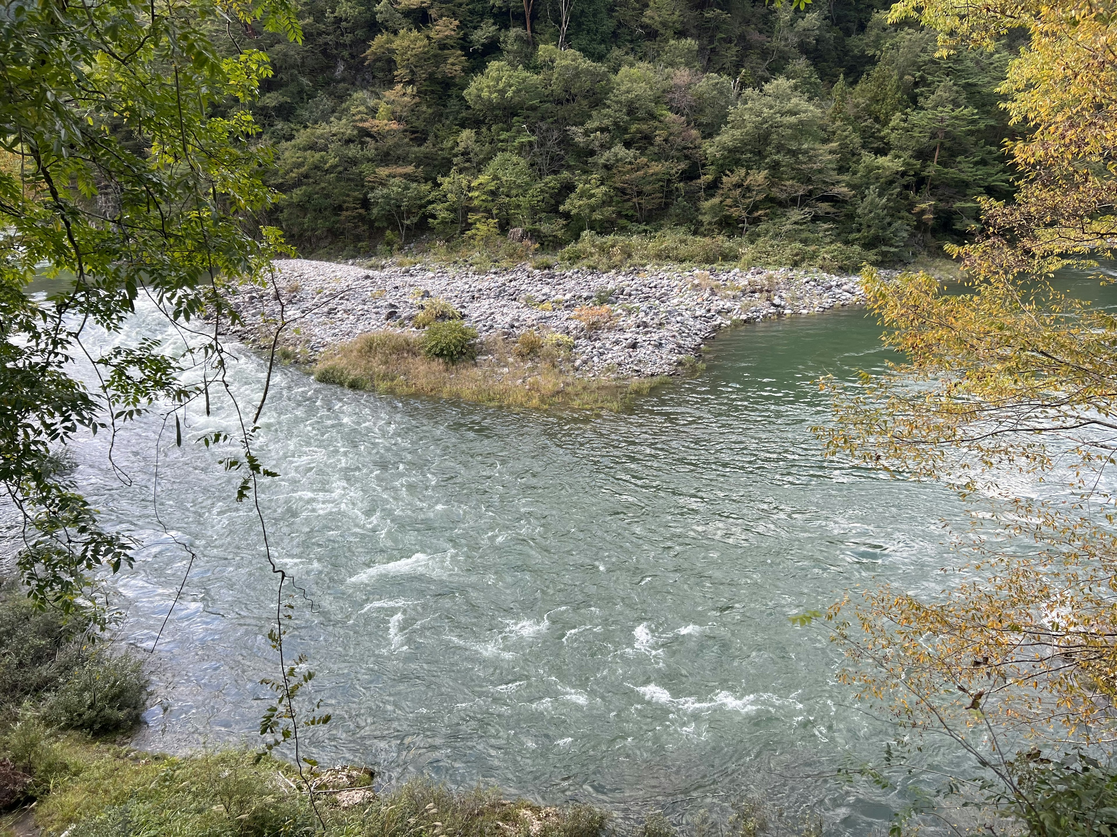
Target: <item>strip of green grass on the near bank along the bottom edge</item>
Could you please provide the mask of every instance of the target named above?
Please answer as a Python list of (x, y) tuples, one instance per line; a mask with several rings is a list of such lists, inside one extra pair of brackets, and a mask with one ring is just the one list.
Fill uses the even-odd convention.
[(346, 769), (314, 780), (319, 821), (295, 769), (270, 758), (168, 757), (77, 740), (56, 747), (68, 775), (39, 800), (45, 837), (598, 837), (607, 826), (593, 808), (454, 793), (424, 780), (376, 793), (366, 771)]

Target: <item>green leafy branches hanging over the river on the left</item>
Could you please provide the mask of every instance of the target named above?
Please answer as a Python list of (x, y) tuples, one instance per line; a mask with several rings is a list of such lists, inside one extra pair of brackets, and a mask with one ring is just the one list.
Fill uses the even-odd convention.
[[(271, 68), (232, 33), (255, 32), (254, 23), (302, 39), (287, 0), (2, 2), (0, 485), (22, 518), (17, 571), (28, 595), (92, 641), (108, 623), (98, 583), (131, 564), (134, 543), (99, 525), (57, 466), (59, 452), (107, 434), (108, 464), (130, 484), (113, 459), (122, 425), (160, 411), (159, 442), (173, 426), (181, 445), (188, 411), (209, 415), (226, 396), (229, 430), (191, 441), (227, 451), (220, 464), (240, 477), (236, 500), (255, 506), (276, 584), (267, 618), (279, 668), (262, 732), (273, 744), (293, 739), (299, 761), (299, 720), (324, 719), (296, 719), (295, 694), (311, 675), (293, 681), (284, 655), (285, 587), (294, 579), (275, 560), (258, 503), (259, 479), (275, 474), (254, 452), (267, 389), (250, 421), (228, 385), (219, 327), (236, 317), (226, 304), (229, 283), (264, 285), (271, 259), (290, 252), (277, 230), (259, 223), (275, 194), (260, 180), (269, 156), (254, 141), (246, 105)], [(223, 49), (212, 37), (222, 31)], [(44, 298), (28, 292), (40, 276), (66, 281)], [(142, 298), (181, 343), (98, 348), (105, 334), (120, 336)], [(153, 459), (159, 519), (157, 444)], [(192, 566), (190, 547), (159, 522)], [(95, 684), (99, 675), (88, 674)], [(101, 691), (93, 689), (95, 702)]]

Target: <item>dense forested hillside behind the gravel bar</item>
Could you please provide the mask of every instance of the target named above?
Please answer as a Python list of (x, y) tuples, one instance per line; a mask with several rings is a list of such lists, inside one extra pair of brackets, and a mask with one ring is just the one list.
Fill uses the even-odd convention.
[(304, 254), (522, 228), (744, 237), (786, 262), (909, 260), (1004, 199), (1012, 46), (936, 58), (887, 0), (305, 0), (247, 30), (271, 211)]

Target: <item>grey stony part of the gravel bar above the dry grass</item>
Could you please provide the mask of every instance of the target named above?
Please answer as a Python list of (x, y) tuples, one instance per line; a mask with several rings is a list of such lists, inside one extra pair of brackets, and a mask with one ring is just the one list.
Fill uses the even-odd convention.
[(281, 344), (307, 363), (367, 331), (408, 329), (423, 305), (440, 298), (481, 337), (536, 330), (572, 338), (579, 376), (648, 377), (676, 372), (731, 324), (865, 301), (856, 276), (790, 268), (475, 272), (305, 259), (276, 268), (274, 287), (244, 286), (232, 296), (244, 320), (232, 334), (269, 344), (281, 315)]

